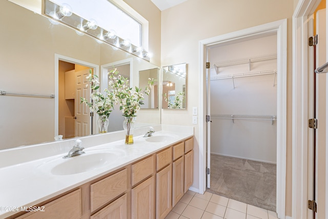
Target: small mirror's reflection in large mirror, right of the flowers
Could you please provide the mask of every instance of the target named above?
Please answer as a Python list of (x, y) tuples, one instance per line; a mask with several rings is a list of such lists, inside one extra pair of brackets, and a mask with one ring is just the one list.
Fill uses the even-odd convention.
[(148, 86), (148, 78), (154, 79), (149, 95), (144, 95), (144, 105), (141, 109), (158, 109), (158, 68), (139, 71), (139, 88), (144, 90)]

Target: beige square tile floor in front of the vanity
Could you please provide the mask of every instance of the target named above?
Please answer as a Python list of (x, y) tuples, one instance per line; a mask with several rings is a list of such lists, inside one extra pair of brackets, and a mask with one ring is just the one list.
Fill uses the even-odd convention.
[(210, 192), (188, 191), (165, 219), (277, 219), (277, 214)]

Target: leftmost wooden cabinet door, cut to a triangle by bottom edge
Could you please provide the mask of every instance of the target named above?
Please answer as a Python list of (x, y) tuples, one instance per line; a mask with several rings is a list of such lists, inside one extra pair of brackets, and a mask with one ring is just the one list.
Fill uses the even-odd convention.
[(117, 198), (114, 202), (101, 209), (94, 215), (90, 217), (90, 219), (107, 219), (107, 218), (115, 218), (115, 219), (126, 219), (128, 218), (128, 199), (127, 194), (122, 195)]

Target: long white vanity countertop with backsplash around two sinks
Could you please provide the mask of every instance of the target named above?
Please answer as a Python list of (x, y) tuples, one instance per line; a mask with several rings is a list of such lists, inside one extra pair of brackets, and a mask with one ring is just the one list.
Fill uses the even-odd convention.
[[(75, 158), (61, 158), (71, 149), (74, 140), (0, 151), (0, 161), (2, 161), (0, 166), (0, 218), (17, 213), (20, 211), (20, 207), (35, 206), (193, 136), (193, 127), (159, 125), (154, 128), (156, 132), (153, 136), (170, 135), (170, 137), (164, 142), (148, 142), (142, 135), (136, 135), (144, 133), (148, 128), (135, 132), (132, 145), (124, 144), (123, 132), (79, 137), (86, 152), (79, 156), (113, 151), (117, 152), (119, 157), (114, 162), (104, 163), (100, 168), (76, 174), (58, 175), (51, 171), (55, 165)], [(117, 140), (119, 137), (122, 140)], [(31, 160), (29, 157), (33, 157), (33, 159)]]

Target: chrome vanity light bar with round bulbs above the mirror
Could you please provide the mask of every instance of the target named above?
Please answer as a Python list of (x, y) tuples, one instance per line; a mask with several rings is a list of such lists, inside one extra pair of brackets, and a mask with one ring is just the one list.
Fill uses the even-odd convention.
[[(73, 28), (75, 31), (80, 32), (80, 35), (87, 34), (91, 37), (97, 39), (97, 41), (105, 42), (110, 46), (114, 46), (126, 52), (129, 52), (133, 55), (136, 55), (140, 58), (145, 59), (146, 61), (150, 61), (150, 53), (148, 53), (144, 49), (140, 49), (139, 47), (128, 43), (128, 39), (122, 39), (118, 37), (113, 30), (105, 30), (96, 25), (95, 21), (87, 21), (83, 17), (80, 17), (74, 13), (70, 14), (70, 16), (62, 16), (60, 19), (56, 16), (53, 16), (54, 12), (58, 12), (60, 10), (60, 6), (49, 1), (45, 1), (44, 7), (44, 15), (49, 19), (54, 20), (55, 22), (64, 24), (70, 28)], [(104, 35), (103, 35), (104, 34)]]

